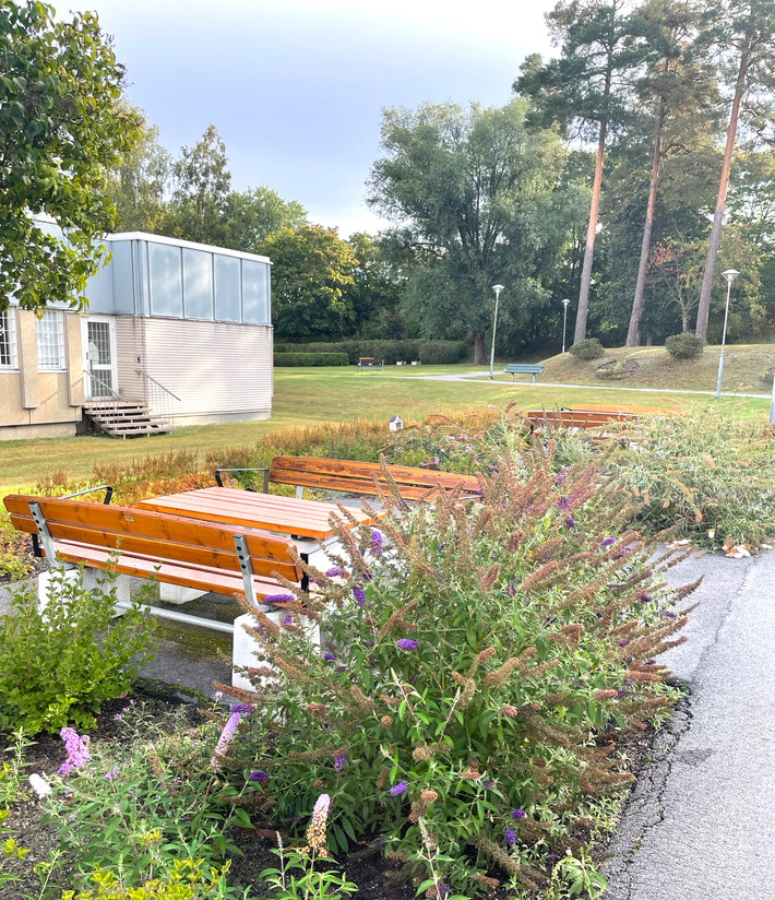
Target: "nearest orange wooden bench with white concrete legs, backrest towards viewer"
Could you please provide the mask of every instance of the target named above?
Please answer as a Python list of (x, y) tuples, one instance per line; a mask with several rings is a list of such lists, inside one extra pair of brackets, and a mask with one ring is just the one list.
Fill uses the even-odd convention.
[[(307, 587), (307, 578), (296, 561), (294, 542), (259, 530), (69, 498), (10, 494), (4, 504), (13, 525), (37, 537), (49, 564), (59, 560), (71, 567), (84, 567), (86, 590), (102, 590), (95, 570), (120, 573), (116, 584), (117, 612), (132, 607), (127, 576), (153, 578), (163, 584), (188, 589), (190, 593), (243, 593), (276, 621), (286, 614), (287, 606), (279, 603), (273, 606), (271, 600), (269, 604), (266, 601), (273, 594), (288, 594), (288, 589), (276, 577)], [(69, 576), (70, 572), (65, 572), (65, 578)], [(56, 583), (50, 572), (38, 577), (41, 606), (47, 605)], [(238, 616), (231, 624), (165, 607), (143, 608), (160, 618), (231, 635), (234, 665), (255, 665), (255, 647), (245, 630), (252, 621), (249, 614)], [(305, 630), (311, 641), (320, 642), (317, 624)], [(233, 674), (231, 682), (250, 688), (250, 683), (238, 672)]]

